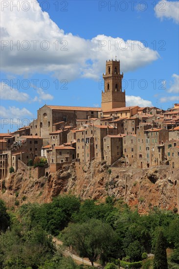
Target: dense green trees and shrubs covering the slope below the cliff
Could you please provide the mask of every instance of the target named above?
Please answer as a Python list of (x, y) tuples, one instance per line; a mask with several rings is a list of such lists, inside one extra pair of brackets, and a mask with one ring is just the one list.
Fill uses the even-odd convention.
[[(0, 214), (5, 220), (3, 228), (0, 226), (0, 269), (79, 268), (62, 257), (52, 244), (52, 236), (59, 236), (64, 245), (72, 246), (91, 263), (100, 260), (118, 265), (120, 259), (124, 265), (133, 262), (139, 266), (137, 262), (146, 258), (143, 252), (161, 252), (161, 231), (165, 247), (173, 249), (169, 268), (179, 267), (179, 215), (172, 211), (155, 208), (148, 215), (139, 215), (112, 197), (99, 203), (64, 195), (50, 203), (24, 204), (10, 215), (1, 202)], [(149, 268), (146, 262), (144, 266)]]

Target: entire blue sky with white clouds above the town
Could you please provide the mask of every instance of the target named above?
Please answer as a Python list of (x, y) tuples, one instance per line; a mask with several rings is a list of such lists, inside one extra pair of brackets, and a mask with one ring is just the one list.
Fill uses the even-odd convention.
[(100, 106), (115, 55), (127, 105), (179, 102), (178, 1), (25, 2), (1, 1), (1, 132), (26, 125), (45, 103)]

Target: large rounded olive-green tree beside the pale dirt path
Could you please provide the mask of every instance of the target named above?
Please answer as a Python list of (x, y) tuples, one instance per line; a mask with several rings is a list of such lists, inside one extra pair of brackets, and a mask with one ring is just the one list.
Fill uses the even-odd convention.
[(63, 231), (63, 240), (72, 246), (81, 257), (89, 258), (91, 265), (98, 256), (106, 259), (115, 244), (115, 232), (109, 224), (91, 219), (83, 224), (70, 224)]

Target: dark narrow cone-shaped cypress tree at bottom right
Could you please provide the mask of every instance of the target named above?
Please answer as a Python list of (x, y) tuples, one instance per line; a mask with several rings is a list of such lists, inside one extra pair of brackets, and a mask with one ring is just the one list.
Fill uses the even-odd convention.
[(158, 233), (154, 254), (154, 269), (167, 269), (166, 240), (161, 230)]

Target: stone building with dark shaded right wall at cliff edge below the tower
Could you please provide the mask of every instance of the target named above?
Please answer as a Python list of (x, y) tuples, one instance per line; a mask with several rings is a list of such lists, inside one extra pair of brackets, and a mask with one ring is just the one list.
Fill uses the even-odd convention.
[(121, 135), (106, 135), (103, 138), (103, 155), (107, 165), (112, 165), (122, 157), (122, 138)]

